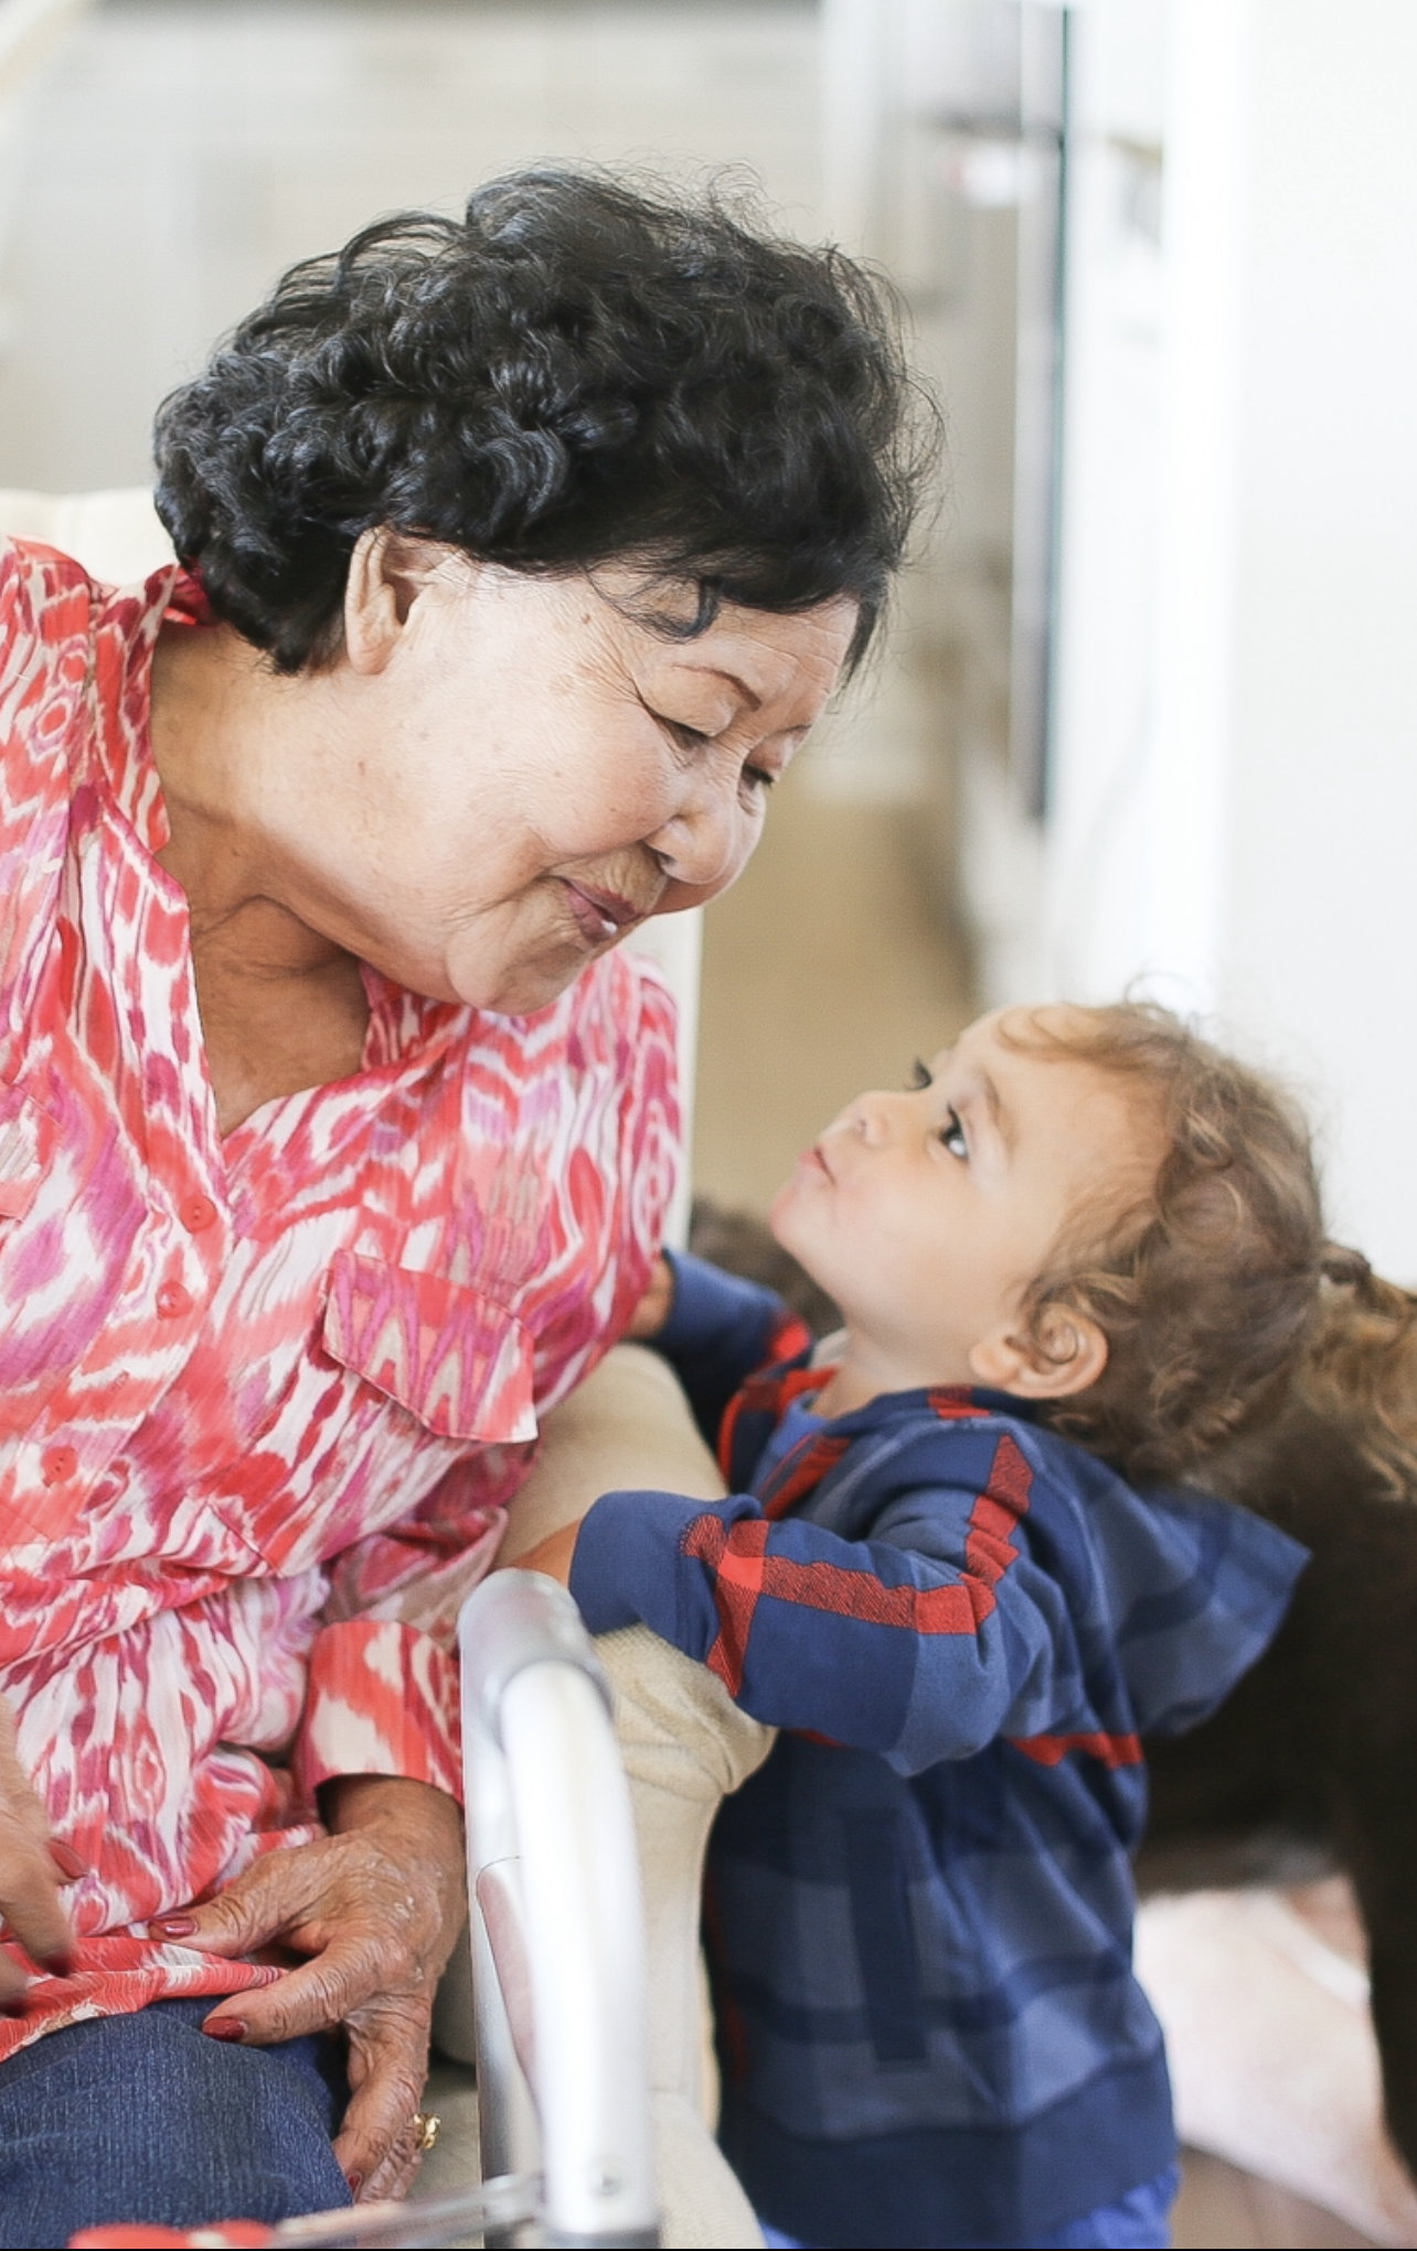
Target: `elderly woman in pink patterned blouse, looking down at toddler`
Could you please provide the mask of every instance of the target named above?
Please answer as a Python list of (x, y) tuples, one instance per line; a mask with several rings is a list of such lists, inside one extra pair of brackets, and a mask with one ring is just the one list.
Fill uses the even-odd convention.
[[(455, 1684), (626, 1330), (671, 1004), (919, 484), (872, 284), (529, 173), (158, 421), (180, 570), (0, 545), (0, 2242), (410, 2174)], [(14, 1720), (14, 1724), (11, 1724)]]

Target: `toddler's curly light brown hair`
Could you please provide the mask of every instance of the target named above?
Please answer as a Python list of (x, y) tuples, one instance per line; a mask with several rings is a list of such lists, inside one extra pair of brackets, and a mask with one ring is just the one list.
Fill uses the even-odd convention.
[(1361, 1423), (1394, 1492), (1417, 1477), (1417, 1299), (1325, 1238), (1309, 1128), (1259, 1071), (1167, 1008), (1030, 1011), (1000, 1033), (1030, 1053), (1129, 1080), (1165, 1155), (1144, 1195), (1079, 1211), (1025, 1301), (1090, 1315), (1102, 1378), (1043, 1416), (1131, 1479), (1185, 1477), (1264, 1423), (1298, 1384)]

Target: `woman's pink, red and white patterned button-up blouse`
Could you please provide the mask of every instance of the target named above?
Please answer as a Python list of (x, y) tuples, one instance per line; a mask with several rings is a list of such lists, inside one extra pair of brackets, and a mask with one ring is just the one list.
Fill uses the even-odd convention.
[(95, 1871), (0, 2055), (275, 1976), (144, 1925), (318, 1835), (324, 1778), (457, 1790), (453, 1659), (381, 1603), (491, 1562), (676, 1171), (674, 1004), (622, 954), (516, 1020), (365, 970), (358, 1076), (219, 1137), (146, 734), (198, 601), (0, 540), (0, 1693)]

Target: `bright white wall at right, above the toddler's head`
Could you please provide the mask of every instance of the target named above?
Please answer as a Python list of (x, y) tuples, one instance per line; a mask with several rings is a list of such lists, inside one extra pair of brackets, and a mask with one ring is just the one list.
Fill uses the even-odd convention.
[(1052, 975), (1295, 1074), (1336, 1229), (1417, 1279), (1417, 7), (1169, 14), (1131, 488), (1126, 353), (1075, 329)]

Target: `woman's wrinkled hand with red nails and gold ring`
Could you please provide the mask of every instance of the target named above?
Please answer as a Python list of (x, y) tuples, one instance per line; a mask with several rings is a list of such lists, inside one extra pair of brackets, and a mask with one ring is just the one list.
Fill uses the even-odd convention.
[(356, 2195), (396, 2197), (419, 2170), (415, 2111), (433, 1994), (466, 1916), (462, 1814), (426, 1783), (349, 1776), (322, 1792), (331, 1837), (268, 1853), (158, 1938), (212, 1954), (282, 1945), (309, 1961), (230, 1994), (214, 2039), (266, 2046), (345, 2026), (349, 2109), (336, 2156)]

